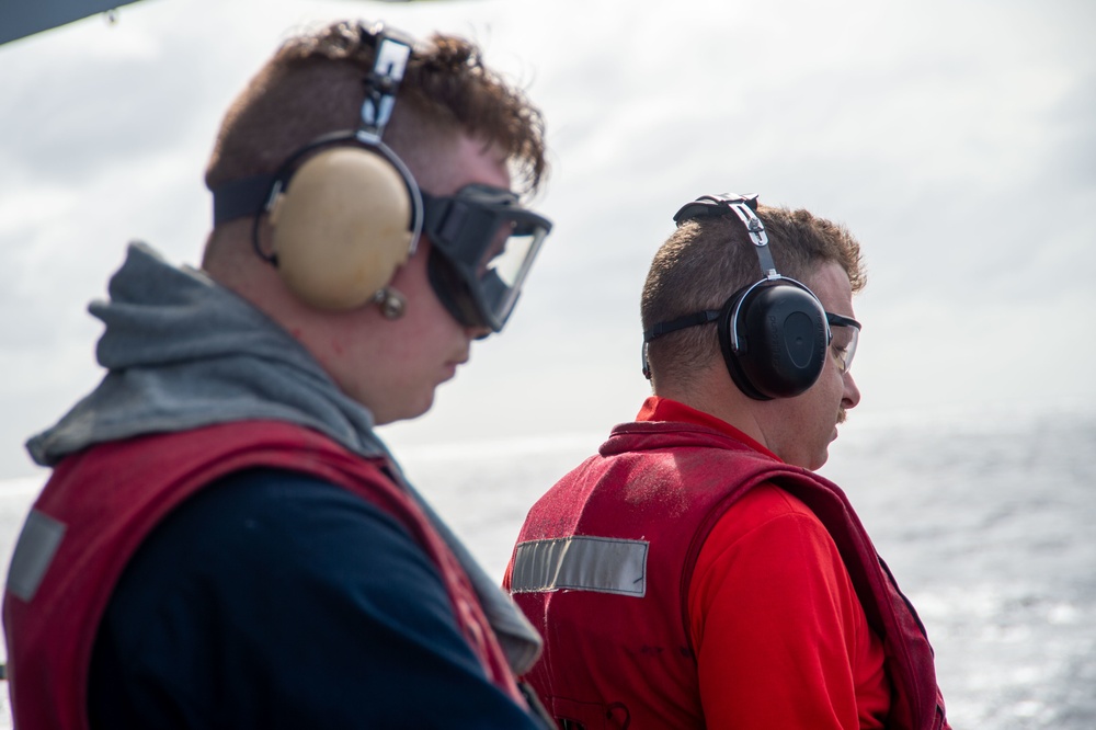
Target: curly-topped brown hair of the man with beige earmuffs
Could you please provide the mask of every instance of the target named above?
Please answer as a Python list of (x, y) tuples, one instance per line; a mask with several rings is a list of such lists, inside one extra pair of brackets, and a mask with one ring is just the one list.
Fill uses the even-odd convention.
[[(273, 173), (312, 139), (356, 129), (374, 46), (357, 21), (286, 41), (226, 114), (206, 185)], [(540, 112), (483, 65), (475, 44), (435, 34), (415, 45), (384, 141), (421, 169), (439, 141), (461, 132), (501, 147), (523, 192), (539, 187), (547, 172)]]

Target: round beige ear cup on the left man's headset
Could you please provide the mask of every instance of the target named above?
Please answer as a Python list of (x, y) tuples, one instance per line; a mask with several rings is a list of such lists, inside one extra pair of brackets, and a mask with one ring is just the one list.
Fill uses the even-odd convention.
[(286, 286), (319, 309), (368, 303), (411, 250), (411, 198), (380, 155), (334, 147), (306, 161), (271, 209)]

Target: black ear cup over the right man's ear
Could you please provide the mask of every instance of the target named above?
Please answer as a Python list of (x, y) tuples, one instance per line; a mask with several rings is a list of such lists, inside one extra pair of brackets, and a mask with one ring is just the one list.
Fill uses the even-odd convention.
[(740, 289), (720, 312), (719, 346), (727, 369), (755, 400), (791, 398), (814, 385), (825, 366), (827, 340), (819, 300), (790, 280)]

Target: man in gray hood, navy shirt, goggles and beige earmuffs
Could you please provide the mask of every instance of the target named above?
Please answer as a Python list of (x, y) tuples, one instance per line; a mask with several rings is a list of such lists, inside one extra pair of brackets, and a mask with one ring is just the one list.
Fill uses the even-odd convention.
[[(201, 270), (133, 244), (4, 598), (38, 728), (535, 728), (539, 637), (374, 427), (502, 329), (540, 113), (455, 36), (332, 23), (225, 117)], [(516, 192), (515, 192), (516, 189)]]

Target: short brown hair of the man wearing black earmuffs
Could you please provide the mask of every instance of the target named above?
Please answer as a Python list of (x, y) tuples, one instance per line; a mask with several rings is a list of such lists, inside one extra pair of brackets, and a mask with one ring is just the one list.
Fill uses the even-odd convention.
[[(730, 212), (729, 212), (730, 213)], [(822, 264), (835, 262), (848, 274), (853, 293), (867, 284), (860, 244), (838, 224), (808, 210), (761, 205), (776, 269), (804, 282)], [(643, 331), (706, 309), (719, 309), (732, 294), (763, 274), (745, 226), (733, 215), (689, 220), (671, 235), (651, 262), (640, 313)], [(650, 344), (648, 358), (657, 378), (687, 383), (689, 373), (719, 355), (716, 328), (689, 327)]]

